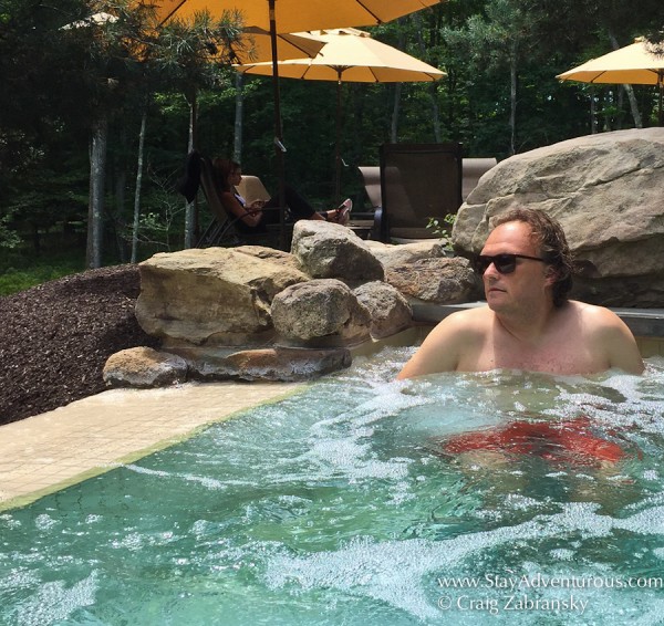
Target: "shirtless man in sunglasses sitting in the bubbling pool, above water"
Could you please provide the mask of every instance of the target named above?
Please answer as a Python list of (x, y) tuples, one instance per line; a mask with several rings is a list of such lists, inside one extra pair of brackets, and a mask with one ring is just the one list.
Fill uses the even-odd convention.
[(556, 220), (543, 211), (512, 209), (492, 225), (475, 265), (487, 306), (443, 320), (397, 378), (498, 368), (643, 372), (636, 342), (618, 315), (568, 300), (572, 260)]

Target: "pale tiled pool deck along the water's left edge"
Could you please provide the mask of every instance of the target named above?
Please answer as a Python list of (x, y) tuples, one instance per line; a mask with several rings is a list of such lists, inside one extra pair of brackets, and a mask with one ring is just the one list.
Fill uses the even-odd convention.
[(186, 383), (111, 389), (0, 427), (0, 511), (181, 441), (302, 383)]

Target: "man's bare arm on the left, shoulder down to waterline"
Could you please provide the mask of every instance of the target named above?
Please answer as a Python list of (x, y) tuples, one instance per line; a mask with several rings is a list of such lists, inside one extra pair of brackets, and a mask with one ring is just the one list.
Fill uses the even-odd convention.
[(397, 380), (436, 372), (455, 372), (461, 356), (461, 347), (468, 340), (467, 317), (467, 311), (445, 317), (406, 363), (396, 377)]

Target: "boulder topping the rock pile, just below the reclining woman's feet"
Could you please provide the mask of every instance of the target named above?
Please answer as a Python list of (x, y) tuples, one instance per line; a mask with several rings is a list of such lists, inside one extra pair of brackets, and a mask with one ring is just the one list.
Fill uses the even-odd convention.
[(291, 252), (315, 279), (357, 282), (384, 278), (383, 265), (366, 243), (338, 223), (300, 220), (293, 229)]

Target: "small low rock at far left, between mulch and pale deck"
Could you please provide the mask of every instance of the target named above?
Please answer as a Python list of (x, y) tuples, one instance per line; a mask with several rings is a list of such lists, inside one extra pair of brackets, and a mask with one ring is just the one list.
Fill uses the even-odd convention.
[(165, 387), (187, 379), (187, 362), (152, 347), (132, 347), (108, 357), (104, 383), (108, 387)]

